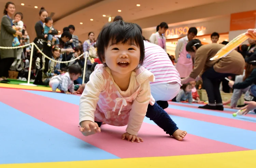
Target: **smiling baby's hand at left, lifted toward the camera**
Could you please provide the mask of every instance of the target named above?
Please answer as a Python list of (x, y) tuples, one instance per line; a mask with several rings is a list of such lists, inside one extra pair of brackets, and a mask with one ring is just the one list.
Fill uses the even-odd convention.
[(96, 132), (100, 132), (100, 127), (97, 123), (86, 120), (82, 121), (80, 125), (80, 131), (84, 136), (93, 135)]

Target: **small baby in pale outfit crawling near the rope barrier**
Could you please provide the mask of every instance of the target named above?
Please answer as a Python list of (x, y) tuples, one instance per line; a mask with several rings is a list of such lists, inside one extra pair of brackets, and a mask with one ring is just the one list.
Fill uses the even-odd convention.
[(68, 72), (53, 76), (49, 82), (49, 86), (53, 92), (56, 92), (58, 88), (66, 94), (76, 94), (74, 92), (74, 80), (78, 79), (81, 74), (82, 69), (80, 66), (72, 65), (69, 67)]

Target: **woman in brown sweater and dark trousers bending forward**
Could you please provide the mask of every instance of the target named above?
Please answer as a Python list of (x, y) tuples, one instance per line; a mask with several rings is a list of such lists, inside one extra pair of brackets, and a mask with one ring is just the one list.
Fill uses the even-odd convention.
[(186, 45), (186, 51), (195, 58), (193, 71), (181, 83), (199, 80), (202, 78), (204, 89), (207, 92), (209, 104), (202, 109), (223, 110), (219, 85), (221, 79), (230, 75), (242, 75), (245, 61), (237, 51), (232, 51), (226, 57), (211, 61), (216, 53), (223, 48), (223, 44), (202, 45), (198, 39), (191, 40)]

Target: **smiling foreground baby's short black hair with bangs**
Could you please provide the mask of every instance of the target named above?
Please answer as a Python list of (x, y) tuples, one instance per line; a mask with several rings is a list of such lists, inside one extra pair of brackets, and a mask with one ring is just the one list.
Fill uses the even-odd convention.
[(112, 44), (117, 44), (119, 42), (125, 44), (128, 42), (129, 44), (137, 45), (140, 48), (139, 64), (142, 65), (145, 57), (144, 42), (141, 32), (136, 24), (118, 20), (103, 26), (96, 44), (98, 49), (97, 55), (105, 66), (105, 49), (108, 48), (110, 42)]

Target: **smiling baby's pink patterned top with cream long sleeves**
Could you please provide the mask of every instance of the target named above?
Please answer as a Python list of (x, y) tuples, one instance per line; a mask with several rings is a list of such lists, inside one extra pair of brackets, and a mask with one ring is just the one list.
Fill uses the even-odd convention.
[(128, 89), (121, 91), (110, 69), (98, 64), (80, 98), (79, 123), (90, 120), (127, 125), (127, 133), (138, 135), (148, 104), (155, 103), (150, 92), (150, 81), (154, 80), (150, 71), (140, 67), (131, 73)]

